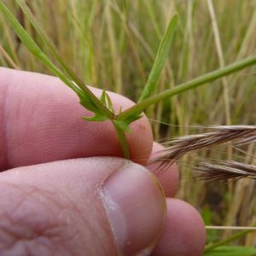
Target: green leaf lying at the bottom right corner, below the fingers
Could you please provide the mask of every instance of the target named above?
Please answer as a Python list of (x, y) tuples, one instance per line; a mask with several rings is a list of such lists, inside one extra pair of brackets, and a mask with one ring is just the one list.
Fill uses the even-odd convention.
[(203, 254), (204, 256), (253, 256), (256, 255), (254, 247), (216, 247)]

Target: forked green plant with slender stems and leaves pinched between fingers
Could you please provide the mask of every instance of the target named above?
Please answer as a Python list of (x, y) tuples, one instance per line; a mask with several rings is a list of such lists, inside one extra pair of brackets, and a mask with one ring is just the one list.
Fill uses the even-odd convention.
[(82, 82), (82, 80), (79, 79), (78, 76), (73, 73), (72, 69), (67, 66), (67, 63), (61, 58), (61, 55), (57, 53), (54, 44), (50, 42), (49, 38), (46, 36), (42, 28), (38, 25), (37, 21), (32, 15), (32, 12), (27, 7), (25, 1), (17, 0), (16, 2), (20, 5), (20, 8), (24, 11), (28, 19), (32, 22), (32, 26), (34, 26), (34, 28), (37, 30), (38, 34), (44, 41), (44, 44), (48, 46), (50, 52), (55, 56), (55, 59), (62, 67), (63, 72), (61, 71), (61, 69), (56, 67), (52, 61), (49, 60), (44, 52), (28, 35), (26, 30), (20, 25), (20, 22), (15, 19), (14, 15), (11, 14), (9, 9), (7, 9), (3, 3), (0, 3), (0, 8), (3, 14), (15, 29), (15, 32), (19, 36), (20, 40), (23, 42), (23, 44), (26, 45), (27, 49), (29, 49), (33, 55), (38, 57), (38, 60), (42, 61), (46, 67), (49, 67), (49, 69), (51, 69), (65, 84), (67, 84), (67, 86), (69, 86), (72, 90), (76, 92), (76, 94), (79, 96), (80, 104), (84, 106), (84, 108), (87, 108), (94, 113), (93, 117), (84, 117), (85, 120), (104, 121), (106, 119), (110, 119), (112, 121), (113, 126), (119, 137), (120, 145), (123, 148), (123, 154), (125, 158), (129, 158), (130, 155), (129, 148), (125, 139), (125, 132), (130, 132), (129, 125), (141, 117), (141, 114), (145, 108), (152, 104), (160, 102), (167, 97), (180, 94), (186, 90), (194, 89), (197, 86), (227, 76), (230, 73), (235, 73), (245, 67), (252, 66), (256, 63), (255, 55), (245, 60), (237, 61), (236, 63), (230, 64), (227, 67), (220, 68), (219, 70), (212, 73), (207, 73), (206, 75), (203, 75), (198, 79), (191, 80), (185, 84), (179, 84), (174, 89), (166, 90), (161, 92), (160, 94), (150, 97), (150, 95), (155, 90), (157, 79), (159, 78), (160, 72), (164, 67), (167, 53), (172, 43), (173, 33), (177, 26), (178, 20), (178, 16), (177, 14), (175, 14), (172, 17), (172, 20), (167, 27), (166, 34), (160, 43), (154, 65), (148, 76), (147, 84), (145, 85), (137, 104), (134, 107), (126, 110), (125, 112), (122, 112), (120, 109), (119, 113), (115, 114), (113, 113), (112, 102), (110, 97), (108, 96), (108, 93), (103, 90), (101, 98), (97, 99), (96, 96), (94, 96), (90, 92), (88, 87)]

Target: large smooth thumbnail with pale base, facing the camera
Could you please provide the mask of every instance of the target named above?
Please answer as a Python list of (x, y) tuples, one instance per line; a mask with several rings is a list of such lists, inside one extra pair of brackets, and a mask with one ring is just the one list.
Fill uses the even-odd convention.
[(166, 200), (156, 177), (131, 163), (108, 177), (102, 193), (119, 252), (134, 255), (152, 247), (166, 218)]

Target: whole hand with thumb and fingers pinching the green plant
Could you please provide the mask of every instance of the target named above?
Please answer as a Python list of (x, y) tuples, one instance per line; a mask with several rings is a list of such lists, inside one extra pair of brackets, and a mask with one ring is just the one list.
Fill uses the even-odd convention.
[(201, 255), (199, 213), (172, 198), (177, 166), (147, 165), (161, 147), (148, 119), (131, 124), (129, 161), (78, 102), (59, 79), (0, 68), (0, 255)]

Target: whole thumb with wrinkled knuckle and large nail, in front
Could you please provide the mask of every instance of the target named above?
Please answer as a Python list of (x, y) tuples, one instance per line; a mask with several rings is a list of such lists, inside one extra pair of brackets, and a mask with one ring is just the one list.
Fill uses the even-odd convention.
[(165, 223), (156, 178), (119, 158), (16, 168), (0, 174), (0, 189), (0, 250), (8, 255), (146, 253)]

